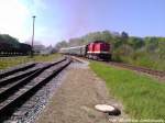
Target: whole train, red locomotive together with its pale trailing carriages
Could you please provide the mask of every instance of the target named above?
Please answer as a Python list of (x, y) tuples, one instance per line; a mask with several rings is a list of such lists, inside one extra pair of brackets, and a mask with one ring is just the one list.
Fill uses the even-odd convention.
[(59, 53), (90, 59), (111, 60), (111, 45), (105, 41), (95, 41), (87, 45), (61, 48)]

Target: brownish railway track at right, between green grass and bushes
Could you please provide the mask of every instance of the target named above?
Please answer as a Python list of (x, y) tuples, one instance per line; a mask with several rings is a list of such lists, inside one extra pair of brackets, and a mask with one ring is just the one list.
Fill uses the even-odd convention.
[(107, 64), (112, 65), (112, 66), (128, 68), (128, 69), (131, 69), (131, 70), (145, 72), (145, 74), (156, 76), (156, 77), (161, 77), (161, 78), (165, 77), (165, 71), (154, 70), (154, 69), (150, 69), (150, 68), (146, 68), (146, 67), (139, 67), (139, 66), (133, 66), (133, 65), (123, 64), (123, 63), (116, 63), (116, 62), (110, 62), (110, 63), (107, 63)]

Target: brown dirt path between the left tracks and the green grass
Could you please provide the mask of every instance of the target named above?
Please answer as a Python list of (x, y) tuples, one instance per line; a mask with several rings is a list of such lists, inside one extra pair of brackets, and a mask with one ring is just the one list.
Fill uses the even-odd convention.
[(105, 81), (89, 67), (72, 65), (36, 123), (111, 123), (111, 120), (125, 118), (123, 111), (120, 116), (109, 116), (95, 110), (98, 103), (113, 104), (122, 110), (121, 103), (108, 93)]

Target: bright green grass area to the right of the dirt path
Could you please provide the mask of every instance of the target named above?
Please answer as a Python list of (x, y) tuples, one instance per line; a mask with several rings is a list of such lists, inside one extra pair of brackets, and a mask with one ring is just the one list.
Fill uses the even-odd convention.
[(106, 81), (110, 93), (123, 103), (125, 113), (132, 119), (165, 120), (165, 83), (98, 62), (91, 62), (90, 67)]

